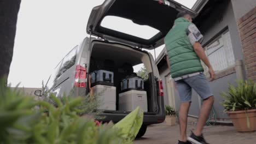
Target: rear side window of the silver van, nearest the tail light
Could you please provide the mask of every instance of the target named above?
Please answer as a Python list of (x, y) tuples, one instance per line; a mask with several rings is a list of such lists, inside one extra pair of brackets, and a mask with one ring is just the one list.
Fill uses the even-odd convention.
[(61, 64), (61, 68), (57, 77), (60, 77), (65, 71), (71, 68), (75, 64), (75, 58), (77, 58), (78, 46), (75, 46), (71, 52), (69, 52), (64, 58)]

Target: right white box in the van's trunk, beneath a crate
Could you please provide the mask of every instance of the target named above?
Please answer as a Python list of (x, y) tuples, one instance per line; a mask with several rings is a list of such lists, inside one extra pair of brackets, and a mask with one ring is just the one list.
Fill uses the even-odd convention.
[(144, 112), (148, 112), (146, 91), (131, 90), (119, 94), (119, 111), (133, 111), (140, 106)]

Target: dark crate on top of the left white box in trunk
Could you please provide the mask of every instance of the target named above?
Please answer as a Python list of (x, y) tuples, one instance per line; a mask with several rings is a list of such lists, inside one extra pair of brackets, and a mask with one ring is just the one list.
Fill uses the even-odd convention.
[(96, 70), (91, 73), (91, 86), (114, 86), (114, 73), (107, 70)]

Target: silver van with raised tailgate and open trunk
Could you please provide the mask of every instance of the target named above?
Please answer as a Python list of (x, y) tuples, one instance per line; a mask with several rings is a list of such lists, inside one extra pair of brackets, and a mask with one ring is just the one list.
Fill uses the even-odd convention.
[[(142, 49), (153, 50), (164, 44), (164, 37), (173, 26), (179, 11), (190, 11), (174, 1), (156, 0), (106, 0), (103, 4), (93, 8), (88, 21), (86, 32), (90, 37), (75, 46), (56, 66), (50, 76), (47, 87), (52, 89), (58, 97), (69, 93), (74, 87), (76, 95), (88, 95), (89, 74), (95, 70), (93, 61), (101, 63), (111, 59), (114, 64), (114, 86), (117, 95), (120, 93), (120, 81), (124, 75), (121, 65), (129, 63), (132, 66), (143, 64), (147, 69), (148, 79), (144, 80), (144, 89), (147, 91), (148, 112), (144, 112), (143, 125), (137, 137), (146, 133), (150, 124), (162, 123), (165, 120), (164, 94), (158, 67), (153, 56)], [(193, 11), (190, 11), (194, 14)], [(138, 26), (148, 26), (156, 32), (142, 38), (127, 32), (121, 32), (102, 25), (104, 19), (115, 23), (114, 19), (131, 20)], [(114, 17), (114, 18), (113, 18)], [(118, 21), (117, 21), (118, 22)], [(122, 25), (119, 25), (122, 27)], [(126, 27), (126, 26), (123, 26)], [(140, 29), (133, 29), (140, 31)], [(126, 29), (126, 30), (127, 30)], [(104, 111), (104, 122), (118, 122), (128, 112), (117, 109)]]

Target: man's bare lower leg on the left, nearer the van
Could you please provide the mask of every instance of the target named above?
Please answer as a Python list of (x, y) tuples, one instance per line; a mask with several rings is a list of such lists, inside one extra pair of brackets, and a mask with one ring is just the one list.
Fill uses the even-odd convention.
[(188, 111), (190, 107), (190, 102), (181, 103), (179, 107), (179, 130), (181, 134), (181, 141), (187, 141), (187, 121), (188, 121)]

